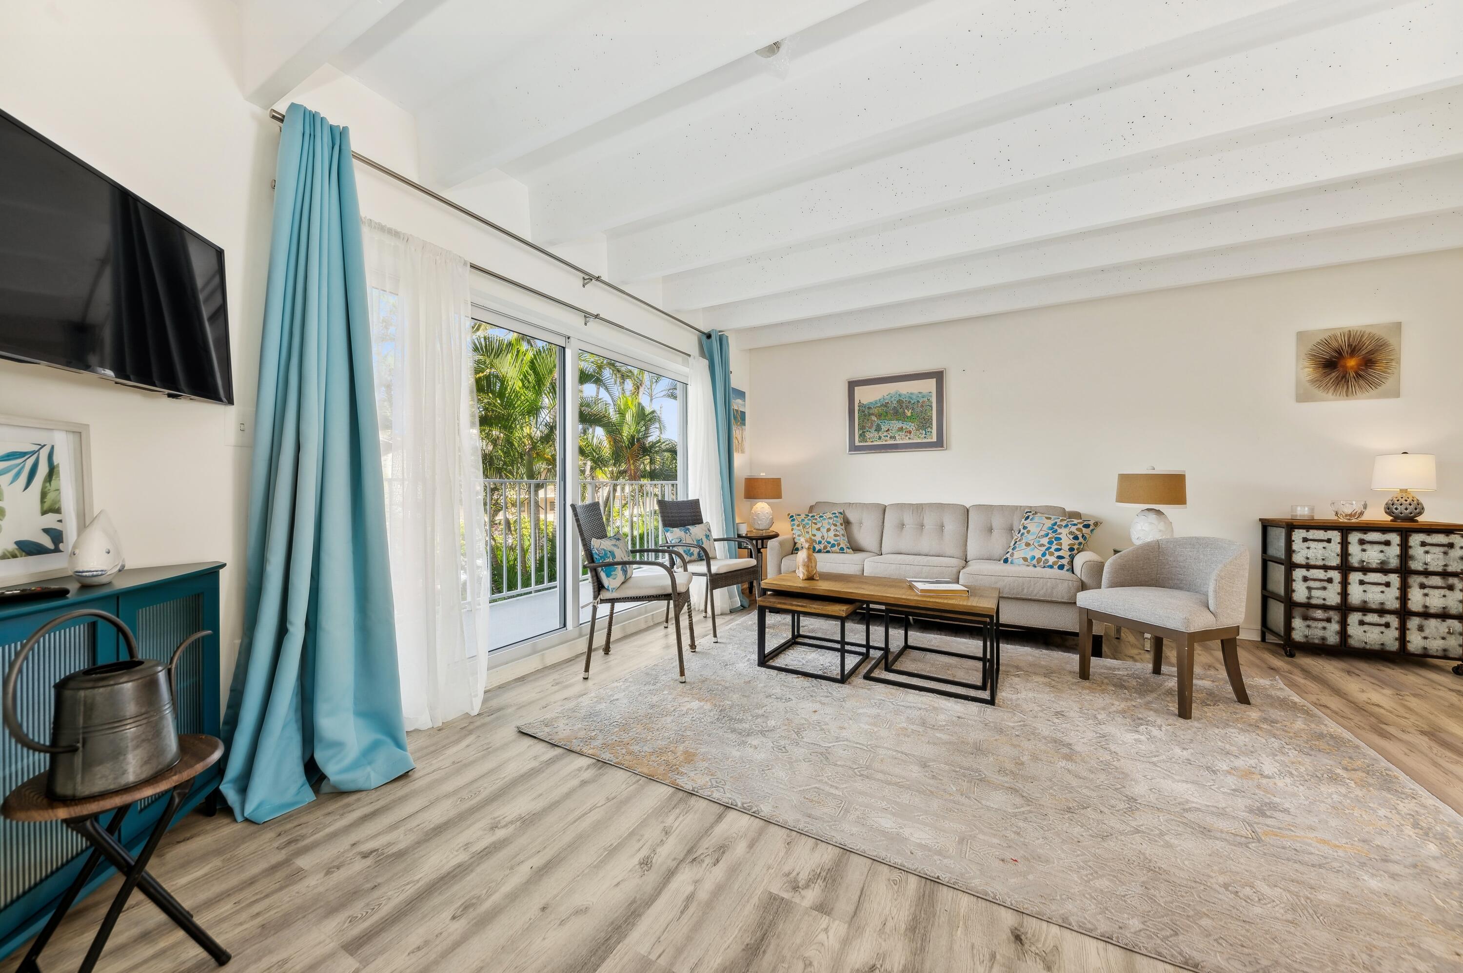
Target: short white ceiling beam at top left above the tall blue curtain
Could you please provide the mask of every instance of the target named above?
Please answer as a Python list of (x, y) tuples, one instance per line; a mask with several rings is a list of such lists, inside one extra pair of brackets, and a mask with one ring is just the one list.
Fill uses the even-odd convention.
[(244, 97), (269, 108), (402, 0), (243, 0)]

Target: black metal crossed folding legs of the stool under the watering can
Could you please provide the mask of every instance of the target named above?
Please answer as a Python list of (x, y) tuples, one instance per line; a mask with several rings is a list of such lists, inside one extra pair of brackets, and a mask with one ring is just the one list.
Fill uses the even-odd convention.
[(41, 951), (45, 948), (45, 944), (50, 942), (51, 935), (56, 933), (56, 929), (61, 925), (61, 919), (66, 917), (66, 913), (76, 901), (76, 897), (86, 885), (86, 881), (92, 876), (92, 872), (95, 872), (97, 866), (101, 865), (102, 859), (107, 859), (121, 875), (121, 888), (117, 890), (117, 897), (111, 900), (111, 906), (107, 909), (107, 914), (101, 920), (101, 928), (97, 929), (92, 944), (86, 950), (86, 958), (82, 960), (80, 967), (78, 967), (78, 973), (89, 973), (97, 966), (97, 960), (101, 958), (101, 951), (107, 947), (107, 939), (111, 936), (111, 931), (117, 925), (117, 917), (121, 916), (121, 910), (127, 904), (127, 898), (132, 897), (133, 890), (142, 890), (142, 894), (151, 898), (168, 919), (192, 936), (193, 942), (202, 947), (217, 964), (224, 966), (233, 958), (228, 950), (218, 945), (214, 936), (208, 935), (203, 926), (198, 925), (198, 920), (193, 919), (193, 913), (184, 909), (178, 900), (168, 893), (168, 890), (165, 890), (155, 878), (152, 878), (152, 875), (148, 874), (148, 862), (152, 859), (152, 853), (158, 850), (158, 841), (162, 840), (162, 834), (168, 830), (168, 824), (173, 822), (173, 815), (177, 814), (178, 805), (183, 803), (192, 783), (193, 781), (184, 781), (171, 790), (167, 799), (167, 806), (162, 809), (162, 815), (148, 834), (148, 840), (143, 843), (142, 850), (138, 852), (136, 857), (129, 854), (127, 849), (123, 847), (120, 841), (121, 822), (132, 805), (117, 808), (117, 811), (113, 812), (111, 822), (105, 828), (101, 827), (101, 814), (86, 818), (72, 818), (64, 822), (67, 828), (91, 843), (92, 852), (86, 859), (86, 863), (82, 866), (82, 871), (76, 874), (70, 887), (61, 894), (60, 901), (56, 904), (56, 912), (51, 913), (45, 928), (35, 936), (35, 941), (26, 951), (25, 958), (16, 969), (16, 973), (40, 973)]

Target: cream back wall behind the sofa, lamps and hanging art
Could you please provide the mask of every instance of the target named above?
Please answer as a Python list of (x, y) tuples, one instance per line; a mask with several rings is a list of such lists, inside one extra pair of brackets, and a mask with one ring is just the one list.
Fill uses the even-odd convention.
[[(1295, 401), (1298, 331), (1388, 320), (1400, 398)], [(846, 379), (935, 367), (948, 449), (846, 452)], [(784, 525), (815, 500), (1064, 503), (1103, 518), (1110, 556), (1134, 514), (1116, 474), (1153, 465), (1188, 471), (1179, 534), (1258, 565), (1255, 518), (1352, 497), (1380, 516), (1372, 457), (1403, 449), (1438, 454), (1426, 518), (1463, 521), (1463, 250), (756, 348), (751, 372), (751, 462), (783, 477)]]

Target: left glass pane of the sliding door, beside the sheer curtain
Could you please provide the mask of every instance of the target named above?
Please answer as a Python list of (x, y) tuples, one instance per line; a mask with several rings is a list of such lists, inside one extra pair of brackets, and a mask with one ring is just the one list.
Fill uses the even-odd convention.
[(474, 322), (473, 360), (493, 574), (489, 645), (503, 648), (565, 626), (565, 348), (494, 316)]

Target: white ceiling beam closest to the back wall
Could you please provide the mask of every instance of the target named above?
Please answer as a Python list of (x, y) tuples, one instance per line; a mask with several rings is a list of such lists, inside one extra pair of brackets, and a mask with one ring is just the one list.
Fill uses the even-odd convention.
[(813, 341), (1453, 247), (1463, 247), (1463, 211), (1457, 209), (751, 328), (739, 334), (739, 345), (759, 348)]

